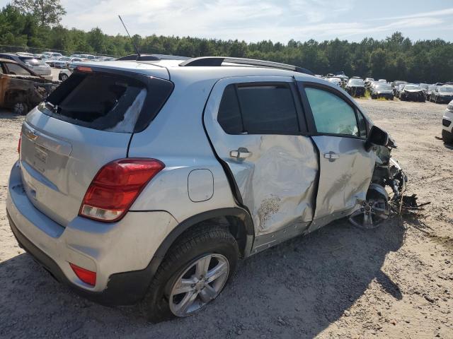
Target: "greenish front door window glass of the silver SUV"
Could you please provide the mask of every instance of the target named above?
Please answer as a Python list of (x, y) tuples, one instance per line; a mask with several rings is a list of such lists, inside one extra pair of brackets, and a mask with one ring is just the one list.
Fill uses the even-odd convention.
[(305, 91), (319, 133), (360, 136), (355, 110), (345, 100), (318, 88)]

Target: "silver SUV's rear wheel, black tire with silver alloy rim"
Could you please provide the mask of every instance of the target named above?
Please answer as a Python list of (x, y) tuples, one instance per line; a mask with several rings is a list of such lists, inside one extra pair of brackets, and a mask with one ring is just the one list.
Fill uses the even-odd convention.
[(168, 250), (140, 304), (148, 321), (190, 316), (215, 299), (236, 269), (239, 247), (224, 227), (188, 230)]

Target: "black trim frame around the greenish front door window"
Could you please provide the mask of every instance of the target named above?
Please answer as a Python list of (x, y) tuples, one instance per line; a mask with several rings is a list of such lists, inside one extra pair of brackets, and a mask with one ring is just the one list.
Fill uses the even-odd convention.
[[(362, 113), (362, 111), (344, 93), (341, 93), (339, 90), (337, 90), (336, 88), (332, 88), (329, 85), (326, 85), (323, 83), (315, 83), (315, 82), (311, 82), (311, 81), (297, 81), (297, 88), (299, 89), (299, 95), (302, 100), (302, 106), (304, 108), (304, 112), (306, 112), (306, 114), (305, 114), (306, 124), (309, 128), (310, 136), (338, 136), (340, 138), (352, 138), (352, 139), (367, 140), (368, 129), (369, 129), (368, 121), (367, 121), (367, 119), (365, 119), (365, 115)], [(305, 88), (316, 88), (319, 90), (326, 90), (326, 92), (332, 93), (333, 95), (340, 97), (340, 99), (343, 99), (354, 110), (357, 129), (359, 129), (359, 115), (358, 114), (362, 114), (362, 117), (365, 121), (365, 131), (366, 131), (367, 135), (365, 137), (361, 137), (361, 136), (352, 136), (350, 134), (318, 132), (318, 130), (316, 129), (316, 124), (314, 122), (313, 112), (311, 112), (309, 98), (306, 96)], [(360, 131), (359, 131), (359, 133), (360, 133)]]

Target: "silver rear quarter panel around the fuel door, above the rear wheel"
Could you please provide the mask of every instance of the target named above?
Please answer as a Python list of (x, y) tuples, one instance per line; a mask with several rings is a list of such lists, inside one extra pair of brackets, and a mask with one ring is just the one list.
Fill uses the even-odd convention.
[[(129, 157), (161, 160), (165, 169), (157, 174), (134, 202), (131, 210), (166, 210), (178, 222), (192, 215), (236, 203), (222, 165), (219, 164), (202, 124), (202, 113), (214, 80), (172, 78), (175, 88), (154, 121), (132, 137)], [(194, 202), (188, 194), (188, 176), (194, 169), (209, 169), (210, 182), (191, 190), (214, 186), (211, 198)], [(193, 184), (193, 183), (192, 183)]]

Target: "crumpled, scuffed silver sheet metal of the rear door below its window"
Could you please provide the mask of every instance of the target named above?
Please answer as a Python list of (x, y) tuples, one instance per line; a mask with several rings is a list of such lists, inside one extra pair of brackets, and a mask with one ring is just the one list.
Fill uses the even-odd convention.
[(317, 153), (305, 136), (257, 136), (252, 161), (229, 162), (257, 234), (309, 222), (314, 213)]

